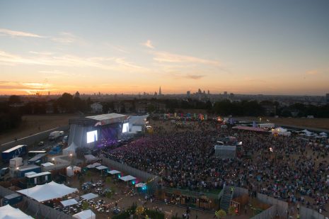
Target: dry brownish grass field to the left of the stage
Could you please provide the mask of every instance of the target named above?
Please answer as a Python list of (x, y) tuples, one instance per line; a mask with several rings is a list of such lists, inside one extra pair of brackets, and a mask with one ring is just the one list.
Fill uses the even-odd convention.
[(15, 137), (19, 139), (59, 126), (69, 125), (69, 119), (75, 117), (74, 114), (22, 116), (22, 122), (18, 128), (0, 134), (0, 145), (11, 142)]

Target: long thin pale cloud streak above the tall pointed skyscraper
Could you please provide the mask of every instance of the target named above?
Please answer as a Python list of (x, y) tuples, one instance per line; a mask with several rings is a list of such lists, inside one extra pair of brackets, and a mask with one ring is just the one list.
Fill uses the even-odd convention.
[(199, 57), (178, 55), (170, 52), (151, 52), (154, 54), (154, 60), (157, 62), (190, 62), (198, 64), (211, 64), (217, 67), (221, 67), (221, 63), (216, 60), (206, 60)]

